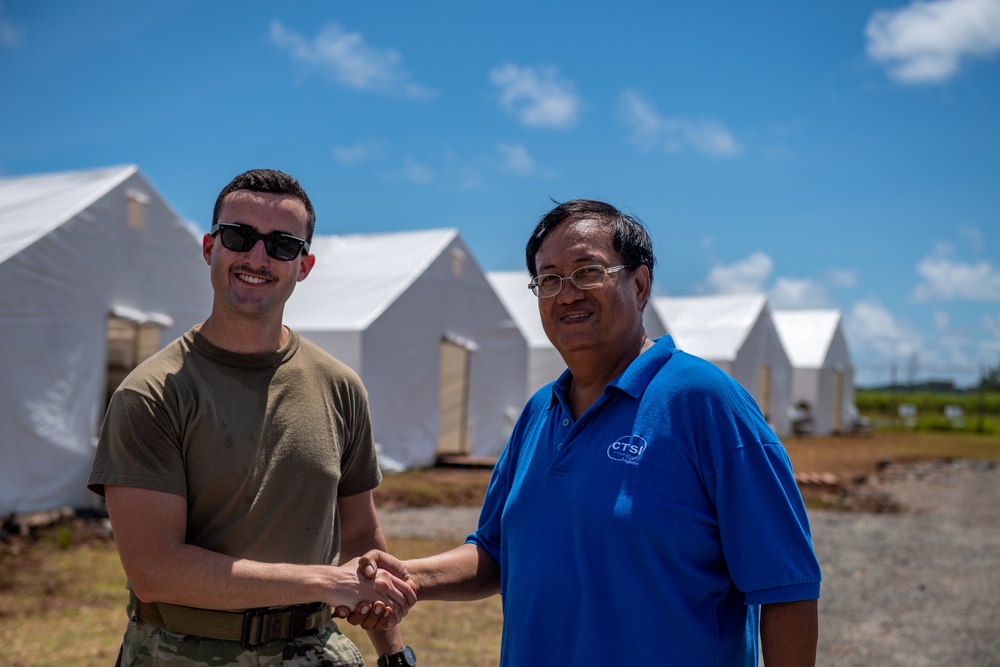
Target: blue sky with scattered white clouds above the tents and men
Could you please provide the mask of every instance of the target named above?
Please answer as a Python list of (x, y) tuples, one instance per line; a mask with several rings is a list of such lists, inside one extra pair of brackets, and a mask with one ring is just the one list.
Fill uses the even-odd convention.
[(1000, 0), (0, 0), (0, 96), (0, 175), (135, 163), (202, 229), (274, 167), (516, 269), (603, 199), (660, 294), (841, 309), (862, 383), (1000, 363)]

